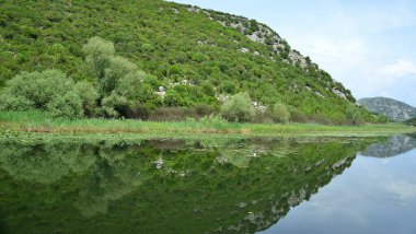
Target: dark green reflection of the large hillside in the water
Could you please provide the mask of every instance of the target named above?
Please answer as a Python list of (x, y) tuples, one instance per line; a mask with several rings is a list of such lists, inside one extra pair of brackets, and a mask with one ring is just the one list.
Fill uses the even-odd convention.
[(1, 141), (0, 231), (255, 233), (374, 141)]

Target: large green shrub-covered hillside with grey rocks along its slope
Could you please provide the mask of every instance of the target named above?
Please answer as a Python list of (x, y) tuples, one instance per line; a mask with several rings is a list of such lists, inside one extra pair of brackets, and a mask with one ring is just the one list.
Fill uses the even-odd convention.
[(99, 36), (147, 73), (143, 86), (158, 95), (135, 101), (151, 109), (218, 109), (249, 92), (256, 108), (285, 104), (293, 121), (343, 124), (348, 108), (371, 120), (348, 90), (254, 20), (161, 0), (9, 0), (0, 26), (1, 85), (46, 69), (93, 82), (82, 48)]

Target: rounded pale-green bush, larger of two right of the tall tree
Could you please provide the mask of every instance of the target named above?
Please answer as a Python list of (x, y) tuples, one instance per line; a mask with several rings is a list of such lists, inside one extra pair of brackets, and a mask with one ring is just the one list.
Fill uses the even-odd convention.
[(221, 106), (221, 116), (229, 121), (250, 121), (254, 116), (254, 108), (249, 93), (238, 93)]

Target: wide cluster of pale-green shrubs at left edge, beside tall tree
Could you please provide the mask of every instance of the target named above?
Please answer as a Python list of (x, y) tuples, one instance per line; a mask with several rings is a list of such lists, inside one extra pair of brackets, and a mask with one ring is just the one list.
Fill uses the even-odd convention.
[(7, 82), (0, 109), (43, 109), (54, 116), (80, 118), (95, 105), (96, 91), (86, 82), (74, 84), (59, 70), (22, 72)]

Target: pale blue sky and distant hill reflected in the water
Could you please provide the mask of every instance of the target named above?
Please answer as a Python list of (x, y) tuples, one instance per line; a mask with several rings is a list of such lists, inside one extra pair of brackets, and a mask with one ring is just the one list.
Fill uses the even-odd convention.
[(370, 144), (342, 176), (261, 233), (416, 233), (414, 139)]

